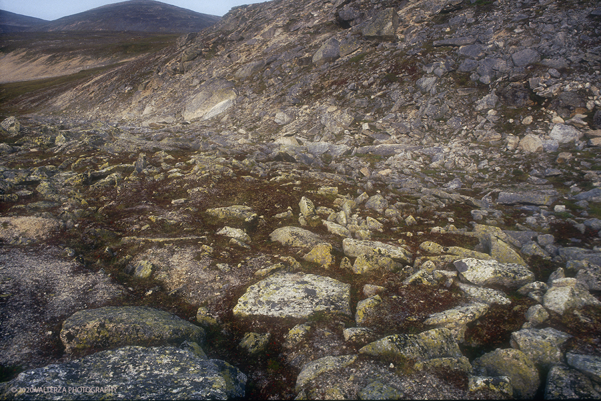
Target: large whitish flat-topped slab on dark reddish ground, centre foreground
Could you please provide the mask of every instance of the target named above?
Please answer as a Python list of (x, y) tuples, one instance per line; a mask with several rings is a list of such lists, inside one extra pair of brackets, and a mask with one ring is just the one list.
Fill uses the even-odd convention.
[(306, 319), (318, 311), (350, 315), (350, 284), (314, 274), (276, 273), (248, 287), (234, 315)]

